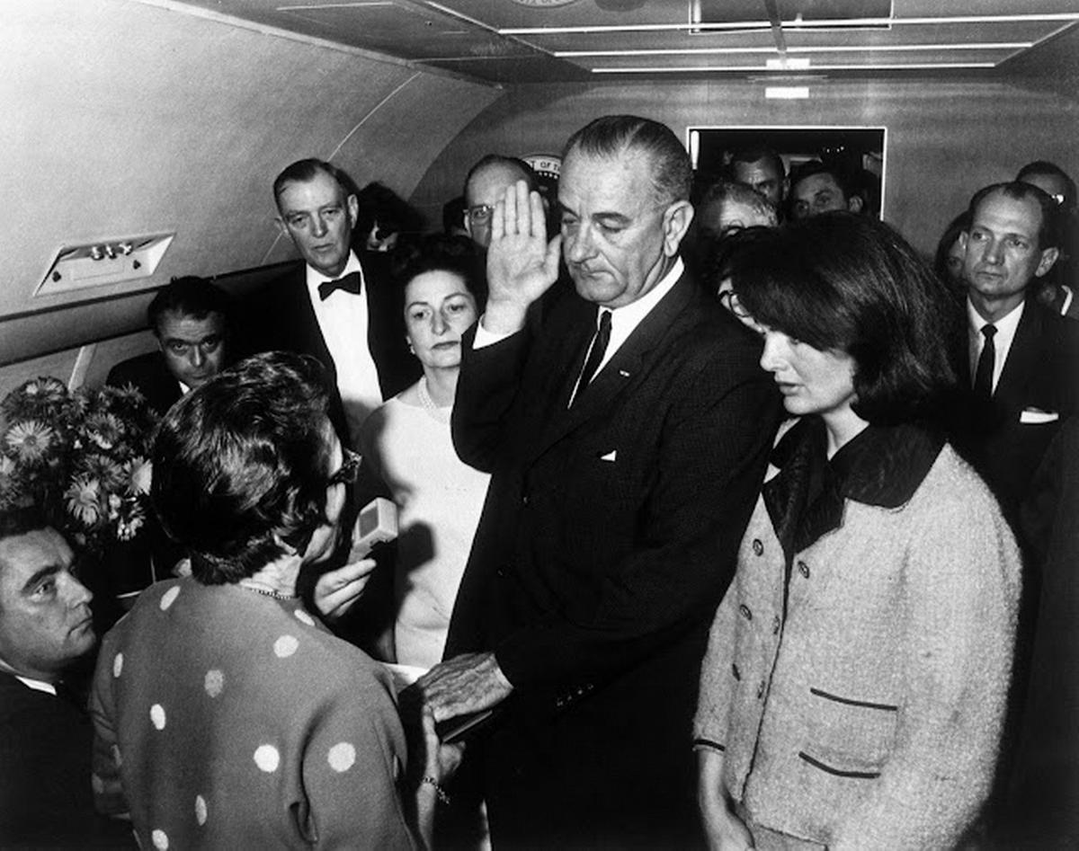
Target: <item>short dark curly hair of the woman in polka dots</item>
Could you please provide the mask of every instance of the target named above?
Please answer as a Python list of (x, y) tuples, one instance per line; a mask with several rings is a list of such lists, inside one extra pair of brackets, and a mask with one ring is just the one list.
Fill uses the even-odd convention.
[(205, 585), (302, 552), (326, 512), (328, 396), (322, 365), (270, 352), (169, 409), (153, 442), (154, 510)]

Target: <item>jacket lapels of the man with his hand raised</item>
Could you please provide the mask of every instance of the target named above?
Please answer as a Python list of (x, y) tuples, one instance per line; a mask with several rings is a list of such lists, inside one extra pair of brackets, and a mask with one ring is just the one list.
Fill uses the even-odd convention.
[[(693, 286), (693, 282), (683, 274), (671, 291), (633, 329), (592, 382), (578, 390), (574, 406), (566, 408), (573, 385), (581, 374), (588, 338), (579, 344), (579, 352), (570, 361), (572, 367), (568, 370), (568, 383), (557, 397), (558, 407), (549, 412), (543, 437), (535, 445), (534, 457), (538, 457), (582, 424), (609, 410), (615, 399), (641, 378), (652, 365), (648, 355), (659, 346), (670, 332), (675, 317), (689, 303), (694, 294)], [(595, 333), (595, 328), (590, 333)]]

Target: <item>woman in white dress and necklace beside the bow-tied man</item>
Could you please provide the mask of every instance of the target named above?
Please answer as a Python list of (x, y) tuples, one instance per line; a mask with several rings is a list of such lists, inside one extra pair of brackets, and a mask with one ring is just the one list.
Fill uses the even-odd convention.
[(489, 476), (461, 462), (450, 439), (461, 338), (478, 315), (474, 267), (467, 242), (445, 236), (428, 237), (406, 262), (406, 337), (423, 378), (372, 413), (360, 435), (367, 471), (399, 510), (392, 642), (379, 645), (399, 664), (441, 661), (487, 495)]

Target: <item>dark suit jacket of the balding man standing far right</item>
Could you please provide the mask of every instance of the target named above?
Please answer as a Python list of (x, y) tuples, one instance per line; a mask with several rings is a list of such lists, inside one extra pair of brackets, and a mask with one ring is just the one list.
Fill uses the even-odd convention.
[[(960, 344), (960, 396), (966, 401), (959, 406), (955, 442), (1015, 527), (1019, 505), (1046, 449), (1061, 423), (1079, 411), (1079, 324), (1028, 299), (988, 406), (970, 394), (966, 326)], [(1032, 409), (1058, 418), (1022, 422), (1023, 411)]]

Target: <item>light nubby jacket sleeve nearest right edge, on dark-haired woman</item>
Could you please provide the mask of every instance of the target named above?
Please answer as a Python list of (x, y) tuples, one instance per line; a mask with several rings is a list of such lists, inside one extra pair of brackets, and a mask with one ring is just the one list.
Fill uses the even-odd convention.
[[(968, 471), (969, 473), (969, 471)], [(897, 745), (830, 848), (953, 848), (988, 795), (1011, 673), (1020, 554), (968, 475), (912, 530)]]

